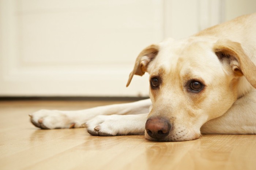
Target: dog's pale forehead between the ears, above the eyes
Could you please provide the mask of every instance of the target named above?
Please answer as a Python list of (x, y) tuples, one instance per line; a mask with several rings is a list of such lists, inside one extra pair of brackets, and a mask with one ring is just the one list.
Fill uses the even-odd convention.
[(204, 40), (166, 41), (160, 44), (153, 72), (159, 68), (168, 74), (190, 74), (209, 79), (209, 74), (222, 74), (221, 63), (214, 54), (213, 42)]

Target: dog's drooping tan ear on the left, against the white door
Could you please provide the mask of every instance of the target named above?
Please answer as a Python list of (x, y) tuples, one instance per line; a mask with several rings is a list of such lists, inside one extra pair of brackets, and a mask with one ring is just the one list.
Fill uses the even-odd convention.
[(148, 63), (150, 63), (154, 58), (157, 56), (159, 51), (159, 46), (158, 45), (151, 45), (146, 47), (140, 54), (138, 55), (135, 66), (132, 70), (132, 72), (129, 75), (128, 82), (126, 84), (126, 87), (129, 86), (131, 83), (133, 75), (144, 75), (145, 72), (147, 71)]

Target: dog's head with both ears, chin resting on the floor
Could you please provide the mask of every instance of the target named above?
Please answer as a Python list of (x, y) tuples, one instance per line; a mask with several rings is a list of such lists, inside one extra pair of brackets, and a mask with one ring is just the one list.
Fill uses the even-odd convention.
[[(187, 141), (223, 115), (249, 88), (256, 66), (239, 43), (229, 40), (168, 40), (145, 48), (129, 76), (150, 74), (153, 107), (145, 135), (153, 141)], [(244, 79), (244, 80), (243, 80)]]

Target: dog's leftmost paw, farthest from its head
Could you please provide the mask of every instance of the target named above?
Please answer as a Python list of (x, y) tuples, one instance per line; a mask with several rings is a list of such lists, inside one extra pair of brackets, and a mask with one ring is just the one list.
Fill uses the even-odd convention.
[(58, 110), (39, 110), (29, 116), (31, 123), (41, 129), (81, 127), (80, 124), (71, 122), (66, 114)]

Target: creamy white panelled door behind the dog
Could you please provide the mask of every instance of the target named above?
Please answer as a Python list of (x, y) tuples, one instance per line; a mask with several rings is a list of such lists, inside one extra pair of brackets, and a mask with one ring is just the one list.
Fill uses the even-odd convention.
[(147, 96), (147, 75), (125, 87), (136, 56), (213, 24), (212, 2), (0, 0), (0, 96)]

